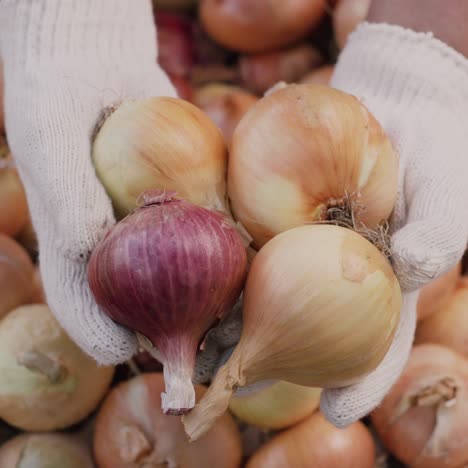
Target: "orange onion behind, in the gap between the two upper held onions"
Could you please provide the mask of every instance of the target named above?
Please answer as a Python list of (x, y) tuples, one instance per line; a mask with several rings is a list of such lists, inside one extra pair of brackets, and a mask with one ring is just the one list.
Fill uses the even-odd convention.
[(237, 124), (257, 101), (258, 98), (248, 91), (221, 83), (198, 88), (192, 98), (221, 130), (228, 148)]

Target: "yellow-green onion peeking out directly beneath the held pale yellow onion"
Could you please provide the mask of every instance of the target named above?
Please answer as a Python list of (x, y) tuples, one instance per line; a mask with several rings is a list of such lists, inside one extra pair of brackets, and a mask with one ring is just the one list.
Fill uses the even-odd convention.
[(253, 392), (237, 392), (229, 409), (238, 419), (264, 429), (284, 429), (312, 414), (320, 403), (319, 388), (274, 382)]

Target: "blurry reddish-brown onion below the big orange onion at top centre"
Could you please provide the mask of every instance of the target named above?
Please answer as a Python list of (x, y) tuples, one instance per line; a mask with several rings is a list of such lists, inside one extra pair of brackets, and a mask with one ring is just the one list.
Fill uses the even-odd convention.
[(263, 94), (276, 83), (294, 83), (323, 62), (322, 54), (309, 44), (285, 50), (244, 55), (239, 59), (239, 72), (247, 89)]

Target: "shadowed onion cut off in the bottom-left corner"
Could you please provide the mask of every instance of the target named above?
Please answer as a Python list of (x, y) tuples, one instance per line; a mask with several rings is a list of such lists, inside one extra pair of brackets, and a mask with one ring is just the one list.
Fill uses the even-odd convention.
[(2, 468), (94, 468), (90, 450), (77, 437), (22, 434), (0, 447)]

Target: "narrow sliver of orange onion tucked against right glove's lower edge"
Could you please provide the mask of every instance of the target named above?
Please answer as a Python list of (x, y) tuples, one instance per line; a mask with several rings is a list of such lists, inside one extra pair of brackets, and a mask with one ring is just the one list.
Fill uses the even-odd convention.
[(438, 312), (452, 296), (461, 274), (461, 262), (444, 275), (431, 281), (421, 289), (418, 299), (418, 320)]

